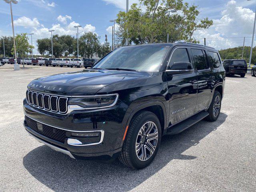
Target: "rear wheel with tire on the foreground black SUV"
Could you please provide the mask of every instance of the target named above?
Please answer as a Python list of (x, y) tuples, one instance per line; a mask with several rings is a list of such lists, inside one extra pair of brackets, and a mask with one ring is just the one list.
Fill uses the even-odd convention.
[[(219, 102), (217, 102), (219, 99)], [(208, 108), (209, 115), (205, 118), (207, 121), (216, 121), (220, 115), (220, 109), (221, 109), (221, 95), (220, 92), (214, 91), (212, 102), (210, 104), (210, 107)], [(216, 111), (215, 111), (215, 110)]]

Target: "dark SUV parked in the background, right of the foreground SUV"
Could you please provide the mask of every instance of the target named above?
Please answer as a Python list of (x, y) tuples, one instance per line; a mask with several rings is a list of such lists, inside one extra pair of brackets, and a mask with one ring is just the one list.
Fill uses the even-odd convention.
[(244, 77), (247, 73), (246, 60), (226, 59), (223, 61), (223, 66), (227, 76), (240, 75)]

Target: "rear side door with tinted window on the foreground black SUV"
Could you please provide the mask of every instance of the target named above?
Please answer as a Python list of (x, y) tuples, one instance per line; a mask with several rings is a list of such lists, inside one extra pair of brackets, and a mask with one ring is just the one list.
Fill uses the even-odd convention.
[(190, 51), (198, 80), (195, 112), (199, 112), (208, 108), (210, 101), (212, 100), (212, 83), (214, 82), (215, 76), (206, 56), (206, 51), (198, 48), (191, 48)]

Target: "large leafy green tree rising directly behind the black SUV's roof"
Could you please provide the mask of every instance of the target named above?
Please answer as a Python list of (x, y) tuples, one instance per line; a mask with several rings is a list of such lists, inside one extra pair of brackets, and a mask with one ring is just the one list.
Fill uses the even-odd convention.
[[(171, 9), (179, 14), (166, 14)], [(189, 6), (182, 0), (140, 0), (127, 13), (117, 14), (116, 22), (120, 26), (117, 34), (121, 44), (127, 37), (135, 44), (166, 42), (167, 33), (171, 41), (195, 42), (194, 32), (212, 25), (208, 18), (198, 19), (199, 13), (197, 6)]]

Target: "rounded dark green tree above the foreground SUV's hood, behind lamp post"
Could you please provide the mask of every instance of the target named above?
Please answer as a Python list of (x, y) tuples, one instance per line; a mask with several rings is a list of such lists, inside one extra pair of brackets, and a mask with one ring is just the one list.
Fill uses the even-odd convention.
[[(94, 55), (100, 55), (100, 36), (96, 33), (86, 32), (80, 36), (79, 40), (79, 54), (82, 57), (92, 58)], [(75, 51), (77, 54), (77, 51)]]

